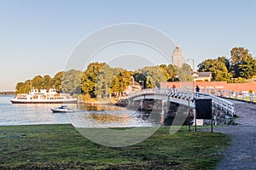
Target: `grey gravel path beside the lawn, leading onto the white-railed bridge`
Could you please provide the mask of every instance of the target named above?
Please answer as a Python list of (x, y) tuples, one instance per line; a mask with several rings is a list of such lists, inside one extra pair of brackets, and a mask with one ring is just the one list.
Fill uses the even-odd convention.
[(224, 151), (224, 159), (216, 169), (256, 170), (256, 105), (232, 101), (236, 104), (238, 125), (213, 128), (215, 132), (229, 134), (232, 141)]

